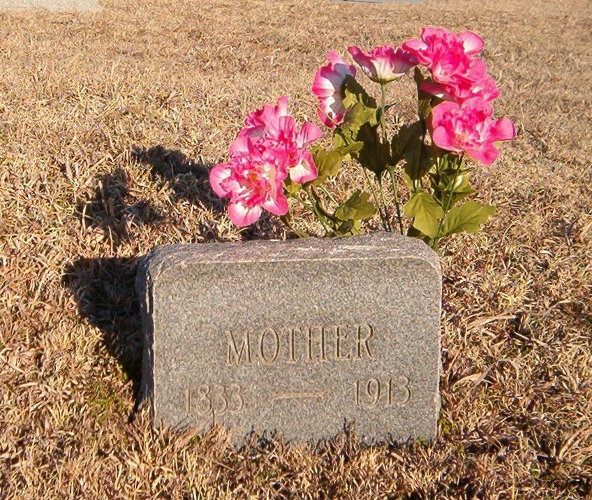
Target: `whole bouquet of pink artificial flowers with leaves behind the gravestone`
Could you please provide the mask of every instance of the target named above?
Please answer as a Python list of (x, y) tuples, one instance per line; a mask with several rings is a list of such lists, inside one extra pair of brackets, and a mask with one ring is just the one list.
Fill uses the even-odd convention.
[[(497, 142), (516, 135), (510, 119), (493, 117), (500, 91), (479, 57), (483, 45), (471, 31), (425, 27), (420, 39), (399, 47), (349, 47), (380, 87), (379, 103), (356, 80), (355, 66), (330, 52), (312, 92), (332, 147), (313, 145), (323, 131), (311, 122), (299, 126), (286, 96), (251, 113), (228, 162), (214, 166), (209, 177), (216, 194), (230, 198), (231, 221), (249, 226), (265, 209), (306, 236), (290, 214), (289, 200), (295, 200), (330, 236), (359, 234), (375, 214), (384, 230), (421, 238), (434, 249), (444, 237), (479, 230), (496, 208), (466, 200), (474, 193), (469, 176), (475, 164), (494, 163)], [(412, 70), (417, 119), (406, 123), (392, 117), (385, 90)], [(359, 164), (370, 193), (354, 189), (346, 200), (336, 199), (332, 181), (343, 163)]]

